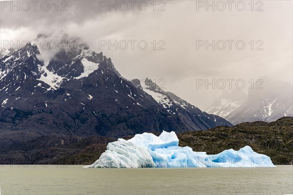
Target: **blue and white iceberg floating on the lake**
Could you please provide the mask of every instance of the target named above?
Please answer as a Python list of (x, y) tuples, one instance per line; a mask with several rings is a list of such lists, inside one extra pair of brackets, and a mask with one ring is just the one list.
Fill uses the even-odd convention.
[(160, 136), (137, 134), (129, 140), (110, 142), (106, 151), (92, 165), (84, 168), (184, 168), (184, 167), (275, 167), (271, 158), (253, 152), (250, 146), (238, 151), (225, 150), (217, 155), (194, 152), (180, 147), (175, 132)]

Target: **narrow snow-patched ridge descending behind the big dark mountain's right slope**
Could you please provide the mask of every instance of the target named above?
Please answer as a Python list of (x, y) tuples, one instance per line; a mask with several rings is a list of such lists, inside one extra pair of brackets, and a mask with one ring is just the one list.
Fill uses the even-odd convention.
[(131, 82), (134, 86), (143, 89), (147, 94), (151, 95), (168, 113), (183, 118), (185, 124), (193, 127), (192, 130), (205, 129), (207, 126), (227, 125), (225, 119), (216, 115), (209, 115), (175, 94), (163, 91), (151, 79), (146, 78), (141, 81), (133, 79)]

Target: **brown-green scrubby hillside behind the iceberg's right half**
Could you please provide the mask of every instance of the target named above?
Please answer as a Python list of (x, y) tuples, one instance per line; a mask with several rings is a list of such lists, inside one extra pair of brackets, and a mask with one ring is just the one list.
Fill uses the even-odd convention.
[(249, 145), (255, 152), (270, 156), (274, 164), (293, 164), (293, 117), (181, 133), (178, 138), (180, 146), (189, 146), (193, 151), (217, 154)]

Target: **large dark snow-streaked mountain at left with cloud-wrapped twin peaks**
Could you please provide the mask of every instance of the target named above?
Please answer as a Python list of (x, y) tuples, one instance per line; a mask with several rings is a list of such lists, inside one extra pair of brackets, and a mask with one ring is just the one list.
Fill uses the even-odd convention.
[(231, 125), (195, 107), (188, 111), (167, 93), (169, 105), (158, 103), (154, 90), (135, 87), (121, 77), (111, 59), (79, 41), (69, 41), (68, 49), (49, 62), (40, 60), (42, 51), (34, 43), (0, 59), (0, 125), (6, 136), (123, 137)]

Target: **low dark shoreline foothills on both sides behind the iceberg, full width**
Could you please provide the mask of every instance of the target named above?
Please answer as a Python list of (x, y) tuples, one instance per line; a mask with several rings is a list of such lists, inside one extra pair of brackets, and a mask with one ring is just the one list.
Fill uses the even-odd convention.
[[(217, 154), (249, 145), (255, 152), (270, 156), (274, 164), (293, 164), (293, 117), (282, 117), (270, 123), (256, 121), (233, 127), (219, 126), (177, 136), (179, 146), (189, 146), (197, 152)], [(92, 164), (105, 152), (107, 143), (115, 140), (110, 137), (38, 137), (13, 148), (2, 147), (0, 164)]]

